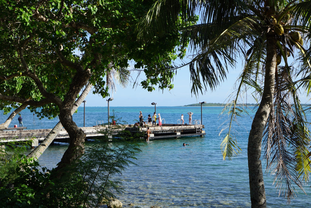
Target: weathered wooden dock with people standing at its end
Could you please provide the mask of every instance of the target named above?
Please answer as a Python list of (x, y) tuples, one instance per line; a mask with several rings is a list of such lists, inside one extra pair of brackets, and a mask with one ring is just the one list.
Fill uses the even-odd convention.
[[(81, 127), (81, 129), (86, 134), (86, 139), (103, 136), (103, 134), (99, 131), (106, 128), (107, 125)], [(150, 139), (177, 138), (182, 136), (203, 136), (205, 135), (205, 131), (203, 131), (202, 128), (204, 128), (204, 125), (163, 124), (160, 127), (150, 127)], [(131, 133), (140, 132), (142, 136), (144, 136), (147, 131), (147, 128), (134, 128), (132, 125), (125, 125), (124, 129)], [(44, 140), (44, 138), (48, 135), (48, 133), (50, 133), (51, 130), (52, 129), (3, 129), (0, 131), (0, 143), (31, 140), (32, 146), (38, 146), (38, 143)], [(54, 141), (69, 143), (69, 136), (67, 131), (63, 128), (63, 130), (61, 130), (55, 137)]]

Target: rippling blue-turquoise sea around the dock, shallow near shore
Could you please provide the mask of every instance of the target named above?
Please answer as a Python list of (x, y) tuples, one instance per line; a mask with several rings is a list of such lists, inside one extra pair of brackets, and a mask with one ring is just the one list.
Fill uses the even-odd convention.
[[(253, 109), (253, 107), (251, 107)], [(205, 125), (204, 137), (181, 137), (178, 139), (158, 140), (141, 146), (142, 152), (137, 155), (137, 166), (131, 165), (122, 175), (116, 176), (123, 182), (124, 193), (117, 195), (123, 206), (129, 203), (142, 208), (153, 205), (161, 207), (250, 207), (247, 139), (251, 128), (254, 112), (238, 118), (239, 124), (234, 124), (235, 135), (242, 149), (241, 154), (230, 160), (223, 160), (220, 143), (226, 131), (220, 134), (220, 125), (228, 119), (220, 116), (223, 107), (203, 107), (202, 123)], [(138, 120), (139, 111), (146, 118), (153, 114), (151, 107), (110, 107), (110, 115), (127, 123)], [(177, 123), (181, 114), (188, 123), (188, 112), (193, 112), (193, 120), (201, 119), (200, 107), (156, 107), (161, 114), (163, 123)], [(107, 122), (107, 107), (86, 107), (85, 126), (93, 126), (96, 122)], [(53, 128), (59, 121), (39, 120), (30, 111), (21, 112), (24, 126), (28, 129)], [(309, 119), (311, 116), (308, 115)], [(0, 122), (7, 116), (0, 111)], [(83, 127), (83, 107), (79, 107), (73, 120), (79, 127)], [(10, 127), (18, 125), (17, 117)], [(183, 147), (183, 143), (189, 146)], [(55, 143), (39, 158), (41, 166), (49, 169), (56, 167), (67, 144)], [(263, 161), (263, 168), (265, 163)], [(263, 170), (265, 171), (265, 169)], [(286, 199), (279, 197), (279, 192), (273, 185), (273, 177), (269, 173), (264, 176), (267, 196), (267, 207), (311, 207), (309, 195), (310, 185), (305, 186), (306, 196), (297, 189), (296, 197), (290, 205)]]

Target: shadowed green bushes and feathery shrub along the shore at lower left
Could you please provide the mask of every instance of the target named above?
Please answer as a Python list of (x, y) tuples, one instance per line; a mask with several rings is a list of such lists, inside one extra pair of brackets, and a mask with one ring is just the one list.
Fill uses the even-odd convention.
[(25, 148), (2, 157), (7, 159), (0, 167), (0, 206), (98, 207), (114, 198), (114, 193), (122, 192), (122, 171), (135, 165), (135, 155), (140, 152), (140, 140), (132, 135), (111, 137), (118, 127), (110, 125), (102, 132), (103, 137), (89, 143), (81, 158), (66, 166), (61, 178), (54, 169), (47, 170), (34, 159), (18, 154)]

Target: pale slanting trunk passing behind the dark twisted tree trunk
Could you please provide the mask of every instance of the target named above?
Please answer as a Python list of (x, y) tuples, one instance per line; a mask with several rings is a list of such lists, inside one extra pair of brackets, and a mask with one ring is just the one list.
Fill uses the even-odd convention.
[[(77, 99), (75, 104), (73, 105), (73, 108), (71, 110), (71, 114), (73, 114), (78, 107), (81, 105), (82, 101), (85, 99), (86, 95), (91, 91), (92, 84), (89, 83), (86, 85), (86, 88), (81, 93), (80, 97)], [(38, 159), (42, 153), (46, 150), (46, 148), (49, 147), (49, 145), (53, 142), (54, 138), (58, 135), (59, 131), (63, 128), (63, 125), (61, 122), (58, 122), (55, 127), (50, 131), (50, 133), (44, 138), (44, 140), (40, 143), (39, 146), (37, 146), (32, 152), (30, 152), (27, 157), (34, 157), (35, 159)]]

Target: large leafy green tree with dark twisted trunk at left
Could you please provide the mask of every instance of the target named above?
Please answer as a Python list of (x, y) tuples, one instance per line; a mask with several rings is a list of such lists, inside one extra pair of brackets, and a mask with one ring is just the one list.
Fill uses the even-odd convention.
[[(148, 81), (173, 85), (155, 72), (175, 59), (179, 32), (137, 40), (134, 26), (151, 5), (142, 0), (0, 1), (0, 109), (29, 105), (39, 117), (59, 116), (71, 142), (56, 168), (80, 157), (84, 132), (72, 121), (78, 93), (88, 82), (108, 95), (104, 80), (112, 69), (152, 71)], [(124, 76), (123, 76), (124, 78)], [(60, 171), (61, 173), (62, 171)]]

